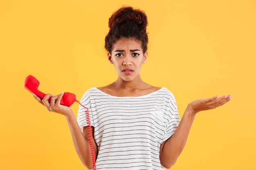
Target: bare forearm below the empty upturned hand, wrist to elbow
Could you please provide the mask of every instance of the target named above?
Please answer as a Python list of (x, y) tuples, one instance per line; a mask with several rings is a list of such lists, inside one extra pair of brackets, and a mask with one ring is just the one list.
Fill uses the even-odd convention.
[(180, 120), (179, 126), (173, 135), (166, 140), (163, 146), (161, 159), (163, 162), (167, 162), (169, 167), (174, 165), (180, 153), (182, 152), (194, 119), (195, 114), (193, 113), (191, 107), (188, 105), (184, 115), (182, 116), (182, 119)]

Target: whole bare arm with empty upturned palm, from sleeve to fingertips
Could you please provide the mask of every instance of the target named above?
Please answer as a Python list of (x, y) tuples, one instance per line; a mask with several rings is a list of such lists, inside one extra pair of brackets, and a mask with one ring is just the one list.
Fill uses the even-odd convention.
[(218, 97), (219, 96), (213, 96), (211, 98), (198, 99), (187, 106), (180, 124), (173, 135), (160, 146), (159, 157), (164, 167), (171, 168), (182, 152), (196, 113), (221, 106), (227, 103), (232, 98), (232, 95)]

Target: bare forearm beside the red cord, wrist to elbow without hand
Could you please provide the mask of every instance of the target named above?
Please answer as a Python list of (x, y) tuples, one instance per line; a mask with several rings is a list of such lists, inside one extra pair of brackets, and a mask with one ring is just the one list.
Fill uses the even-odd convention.
[(88, 139), (83, 136), (73, 112), (66, 115), (66, 119), (80, 160), (86, 168), (92, 169), (92, 159)]

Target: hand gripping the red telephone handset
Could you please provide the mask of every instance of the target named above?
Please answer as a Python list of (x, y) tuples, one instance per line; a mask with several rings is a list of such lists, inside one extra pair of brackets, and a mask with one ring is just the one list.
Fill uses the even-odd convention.
[[(48, 111), (59, 113), (64, 116), (67, 116), (73, 112), (70, 107), (67, 107), (61, 104), (61, 98), (64, 93), (61, 93), (56, 96), (53, 96), (53, 94), (47, 93), (43, 99), (40, 99), (40, 97), (38, 97), (34, 93), (31, 93), (31, 94), (40, 104), (45, 106)], [(51, 97), (50, 102), (48, 101), (49, 97)]]

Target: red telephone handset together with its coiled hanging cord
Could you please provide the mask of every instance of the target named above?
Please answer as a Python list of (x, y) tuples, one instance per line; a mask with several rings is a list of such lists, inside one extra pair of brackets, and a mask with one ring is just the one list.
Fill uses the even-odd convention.
[[(39, 86), (40, 82), (32, 75), (28, 75), (25, 79), (25, 83), (24, 83), (24, 87), (30, 92), (30, 93), (34, 93), (36, 94), (38, 97), (40, 97), (40, 99), (43, 99), (45, 97), (45, 93), (40, 92), (38, 90), (38, 86)], [(48, 99), (49, 102), (51, 102), (51, 97)], [(65, 92), (61, 98), (61, 105), (65, 105), (67, 107), (71, 106), (74, 102), (78, 102), (79, 104), (81, 104), (79, 101), (76, 100), (76, 95), (74, 95), (73, 93), (68, 93)], [(83, 106), (81, 104), (81, 106)], [(85, 106), (83, 106), (84, 108), (86, 108)], [(86, 121), (88, 124), (88, 141), (89, 141), (89, 145), (90, 145), (90, 150), (91, 150), (91, 157), (92, 157), (92, 169), (96, 170), (96, 163), (95, 163), (95, 152), (94, 152), (94, 147), (92, 144), (92, 128), (91, 128), (91, 124), (90, 124), (90, 116), (89, 116), (89, 110), (88, 108), (86, 108), (87, 110), (85, 110), (85, 114), (86, 114)]]

